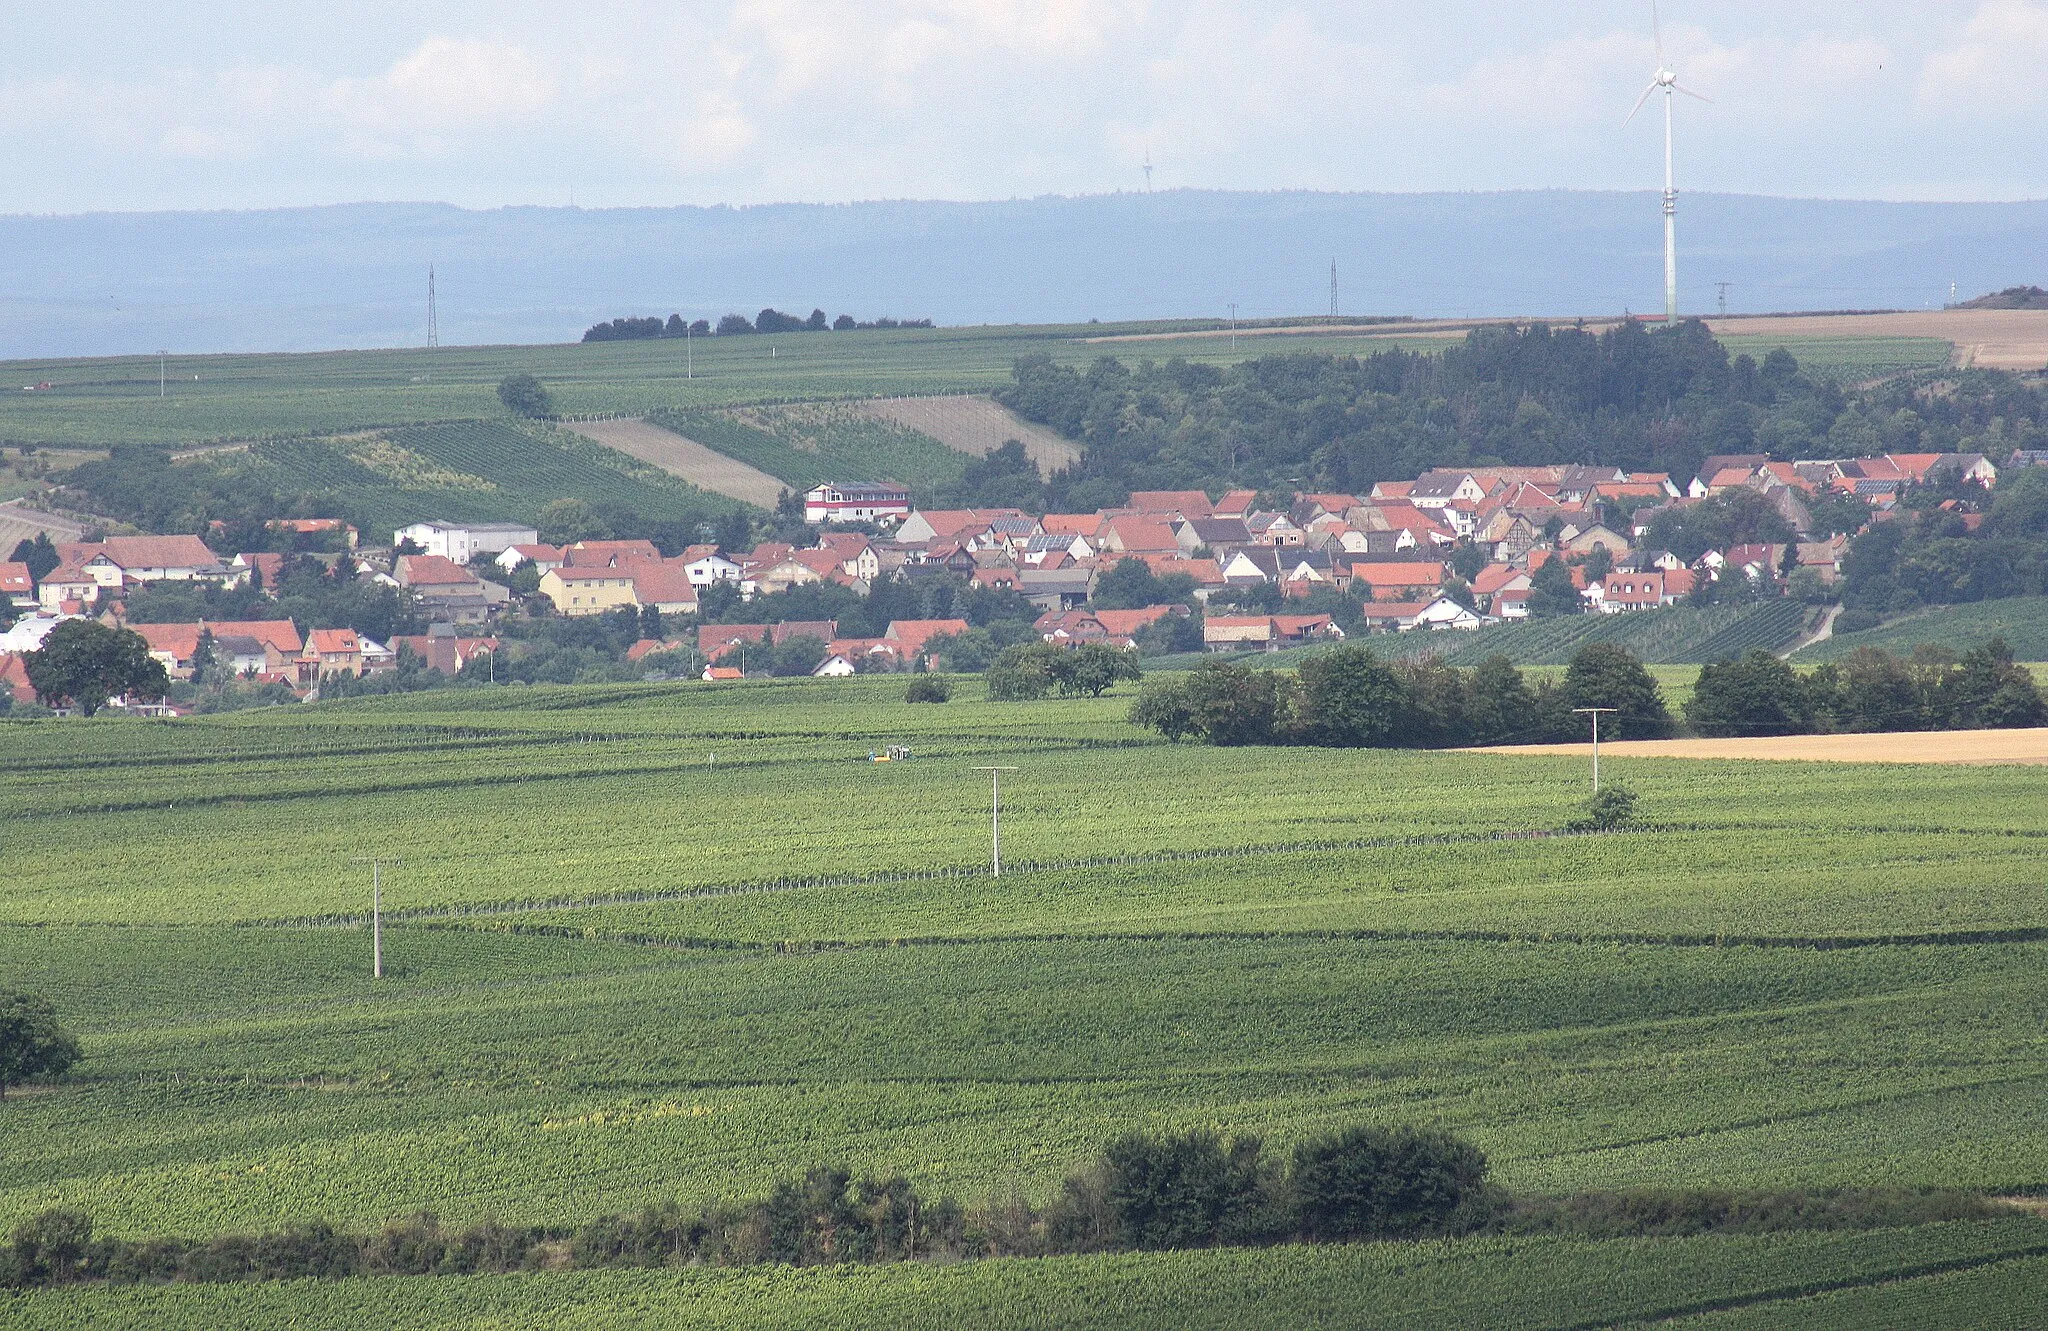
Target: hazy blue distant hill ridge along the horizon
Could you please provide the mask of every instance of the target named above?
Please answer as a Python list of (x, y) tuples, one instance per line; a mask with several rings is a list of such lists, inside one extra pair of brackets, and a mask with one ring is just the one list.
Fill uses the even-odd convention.
[[(2038, 272), (2048, 203), (1688, 195), (1681, 305), (1925, 309)], [(358, 203), (0, 217), (0, 358), (573, 342), (637, 313), (940, 324), (1661, 307), (1653, 192), (1169, 190), (668, 209)]]

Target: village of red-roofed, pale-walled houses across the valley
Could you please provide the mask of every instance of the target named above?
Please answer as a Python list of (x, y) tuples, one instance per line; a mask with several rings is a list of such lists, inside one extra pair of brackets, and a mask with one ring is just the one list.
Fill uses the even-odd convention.
[[(2040, 465), (2019, 453), (2005, 465)], [(133, 534), (61, 543), (35, 569), (16, 551), (0, 563), (0, 596), (14, 622), (0, 633), (0, 688), (35, 700), (23, 655), (68, 618), (133, 629), (178, 682), (213, 672), (317, 698), (324, 684), (414, 663), (455, 676), (500, 651), (508, 616), (602, 616), (637, 612), (655, 633), (625, 651), (674, 678), (678, 663), (702, 680), (764, 674), (776, 649), (813, 639), (813, 676), (936, 670), (940, 647), (971, 625), (961, 616), (889, 620), (874, 637), (842, 635), (829, 618), (725, 622), (748, 606), (811, 584), (866, 598), (883, 582), (954, 579), (969, 590), (1014, 594), (1036, 614), (1032, 629), (1055, 645), (1108, 643), (1135, 649), (1149, 627), (1186, 620), (1184, 647), (1219, 653), (1278, 651), (1356, 633), (1468, 631), (1532, 612), (1620, 614), (1696, 598), (1702, 584), (1743, 586), (1751, 596), (1831, 588), (1851, 532), (1823, 530), (1815, 510), (1853, 502), (1858, 522), (1882, 522), (1909, 487), (1991, 489), (1999, 463), (1982, 455), (1927, 453), (1780, 463), (1763, 455), (1710, 457), (1698, 475), (1628, 473), (1616, 467), (1468, 467), (1382, 481), (1370, 493), (1262, 496), (1233, 489), (1137, 491), (1126, 504), (1087, 514), (1016, 508), (926, 510), (887, 483), (817, 485), (803, 496), (813, 545), (715, 543), (664, 553), (649, 539), (547, 545), (512, 522), (416, 522), (393, 532), (389, 551), (360, 549), (338, 518), (279, 518), (270, 528), (338, 561), (365, 584), (395, 590), (420, 633), (377, 641), (346, 625), (291, 616), (131, 622), (127, 598), (158, 584), (276, 588), (293, 555), (223, 555), (195, 534)], [(1745, 496), (1782, 518), (1790, 541), (1733, 543), (1683, 557), (1651, 541), (1661, 514)], [(1982, 520), (1970, 500), (1948, 500), (1964, 524)], [(1868, 518), (1864, 514), (1868, 512)], [(29, 543), (23, 543), (25, 547)], [(1159, 604), (1098, 604), (1104, 577), (1137, 561)], [(1546, 565), (1569, 577), (1577, 604), (1540, 606)], [(1556, 586), (1563, 579), (1552, 575)], [(754, 616), (758, 618), (758, 616)], [(750, 661), (752, 655), (752, 661)], [(786, 657), (784, 657), (786, 659)], [(788, 674), (786, 670), (780, 674)], [(178, 711), (150, 704), (145, 711)]]

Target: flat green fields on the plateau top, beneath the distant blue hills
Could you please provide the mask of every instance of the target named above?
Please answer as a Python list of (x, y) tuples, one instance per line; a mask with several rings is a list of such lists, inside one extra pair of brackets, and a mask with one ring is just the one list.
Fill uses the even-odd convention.
[[(379, 426), (494, 418), (498, 381), (532, 373), (565, 414), (817, 401), (838, 397), (983, 393), (1010, 379), (1024, 354), (1085, 364), (1182, 356), (1229, 364), (1274, 352), (1366, 354), (1393, 346), (1430, 350), (1442, 338), (1364, 334), (1284, 338), (1165, 338), (1174, 324), (995, 326), (748, 338), (594, 342), (557, 346), (438, 346), (401, 350), (170, 356), (158, 397), (156, 356), (0, 362), (0, 383), (53, 385), (0, 393), (0, 442), (203, 444), (297, 438)], [(1155, 334), (1130, 342), (1090, 338)], [(1726, 338), (1731, 352), (1763, 356), (1784, 340)], [(1802, 364), (1868, 379), (1948, 358), (1942, 342), (1817, 338), (1790, 344)]]

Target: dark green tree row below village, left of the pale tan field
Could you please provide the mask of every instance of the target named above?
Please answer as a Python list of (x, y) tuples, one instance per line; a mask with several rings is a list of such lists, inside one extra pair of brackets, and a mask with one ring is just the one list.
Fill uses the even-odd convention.
[(1147, 678), (1130, 721), (1167, 739), (1204, 743), (1305, 743), (1321, 747), (1460, 747), (1583, 739), (1577, 706), (1614, 709), (1602, 733), (1661, 739), (1671, 713), (1651, 674), (1622, 647), (1589, 643), (1563, 684), (1534, 688), (1505, 657), (1477, 670), (1436, 659), (1380, 661), (1346, 643), (1319, 651), (1294, 674), (1204, 661)]

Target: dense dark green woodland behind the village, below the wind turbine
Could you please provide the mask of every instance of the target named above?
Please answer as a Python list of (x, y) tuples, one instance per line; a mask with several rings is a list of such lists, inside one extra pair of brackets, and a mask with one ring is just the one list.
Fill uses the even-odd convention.
[[(1020, 358), (997, 397), (1087, 444), (1036, 496), (1055, 512), (1114, 506), (1133, 489), (1358, 493), (1481, 463), (1599, 463), (1688, 479), (1726, 453), (2003, 457), (2048, 446), (2042, 385), (1944, 371), (1843, 389), (1784, 348), (1763, 360), (1729, 356), (1700, 321), (1597, 334), (1489, 326), (1440, 354), (1276, 354), (1233, 367), (1102, 356), (1075, 369), (1040, 354)], [(1016, 493), (1022, 481), (1006, 483)]]

